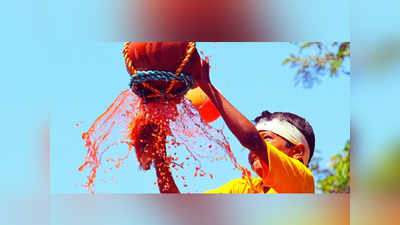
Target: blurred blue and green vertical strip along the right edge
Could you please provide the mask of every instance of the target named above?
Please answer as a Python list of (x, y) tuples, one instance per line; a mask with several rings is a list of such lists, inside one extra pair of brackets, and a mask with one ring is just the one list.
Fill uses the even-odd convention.
[(352, 222), (359, 224), (399, 221), (398, 6), (351, 2), (351, 211)]

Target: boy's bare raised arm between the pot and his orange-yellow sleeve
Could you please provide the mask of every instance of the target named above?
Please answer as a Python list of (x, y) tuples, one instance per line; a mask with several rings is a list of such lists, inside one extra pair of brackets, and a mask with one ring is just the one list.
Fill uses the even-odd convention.
[(211, 83), (200, 85), (220, 112), (225, 123), (239, 142), (268, 163), (266, 144), (256, 127), (240, 113)]

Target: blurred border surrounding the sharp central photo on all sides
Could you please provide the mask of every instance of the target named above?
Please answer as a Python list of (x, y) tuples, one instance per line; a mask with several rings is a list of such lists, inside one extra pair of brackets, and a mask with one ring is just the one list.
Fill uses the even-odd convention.
[[(151, 1), (120, 2), (13, 1), (0, 9), (1, 137), (4, 143), (13, 143), (3, 148), (1, 164), (5, 173), (0, 209), (7, 224), (87, 224), (89, 220), (97, 224), (185, 224), (188, 220), (209, 224), (349, 223), (348, 195), (278, 195), (268, 199), (191, 195), (186, 196), (186, 202), (185, 197), (158, 195), (49, 195), (50, 99), (58, 87), (68, 85), (73, 91), (76, 83), (65, 75), (57, 77), (67, 68), (49, 70), (48, 65), (64, 54), (65, 43), (71, 48), (74, 42), (110, 40), (351, 41), (351, 222), (399, 221), (398, 3), (311, 0), (247, 1), (244, 5), (203, 1), (207, 7), (180, 4), (186, 8), (175, 6), (175, 10), (180, 9), (177, 12)], [(202, 7), (201, 16), (189, 20), (188, 15), (199, 15), (191, 10), (197, 12)], [(134, 10), (140, 13), (132, 13)], [(169, 15), (175, 20), (167, 20)], [(187, 29), (192, 28), (190, 32), (178, 29), (185, 21), (190, 21), (186, 24)], [(164, 26), (158, 22), (170, 26), (161, 29)], [(225, 26), (227, 23), (230, 26)], [(174, 25), (179, 26), (173, 30)], [(82, 60), (74, 54), (66, 57)], [(213, 205), (218, 210), (210, 208)], [(163, 206), (167, 207), (158, 208)]]

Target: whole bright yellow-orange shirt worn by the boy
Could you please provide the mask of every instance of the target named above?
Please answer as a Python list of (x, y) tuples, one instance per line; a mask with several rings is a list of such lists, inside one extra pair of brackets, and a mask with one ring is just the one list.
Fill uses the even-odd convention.
[(218, 189), (204, 193), (314, 193), (314, 177), (311, 171), (299, 160), (266, 143), (269, 165), (262, 163), (263, 178), (251, 178), (251, 184), (248, 178), (234, 179)]

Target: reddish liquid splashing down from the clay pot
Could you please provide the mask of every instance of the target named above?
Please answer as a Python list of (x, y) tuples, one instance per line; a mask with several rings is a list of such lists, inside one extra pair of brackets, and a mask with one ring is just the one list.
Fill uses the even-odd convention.
[[(82, 134), (82, 139), (87, 154), (79, 171), (89, 170), (87, 183), (82, 186), (90, 193), (94, 193), (98, 170), (104, 167), (106, 173), (112, 168), (120, 168), (132, 149), (144, 170), (150, 169), (154, 157), (163, 154), (154, 149), (164, 148), (167, 155), (164, 159), (170, 162), (173, 171), (193, 170), (194, 177), (209, 175), (212, 179), (213, 174), (202, 169), (201, 159), (212, 162), (230, 159), (235, 168), (242, 170), (242, 177), (250, 176), (250, 172), (237, 163), (222, 129), (203, 122), (190, 100), (184, 97), (145, 103), (127, 89)], [(146, 147), (148, 143), (151, 148)], [(115, 148), (119, 144), (127, 144), (128, 150), (120, 152)], [(177, 153), (182, 156), (183, 150), (186, 150), (186, 156), (177, 157)], [(113, 151), (116, 153), (111, 154), (113, 157), (106, 156)], [(181, 178), (185, 183), (185, 176), (176, 175), (175, 178)], [(184, 187), (187, 187), (186, 183)]]

